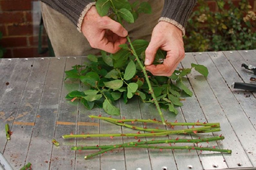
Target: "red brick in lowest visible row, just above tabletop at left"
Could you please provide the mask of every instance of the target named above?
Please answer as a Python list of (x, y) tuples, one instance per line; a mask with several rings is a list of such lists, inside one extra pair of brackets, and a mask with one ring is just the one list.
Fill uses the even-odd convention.
[(25, 57), (47, 57), (48, 52), (45, 54), (38, 54), (37, 48), (16, 48), (13, 49), (14, 58), (25, 58)]

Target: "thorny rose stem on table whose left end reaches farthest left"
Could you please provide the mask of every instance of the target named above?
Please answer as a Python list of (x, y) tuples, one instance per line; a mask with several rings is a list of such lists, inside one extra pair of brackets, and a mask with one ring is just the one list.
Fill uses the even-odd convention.
[(88, 138), (88, 137), (150, 137), (150, 136), (165, 136), (165, 135), (171, 135), (171, 134), (188, 134), (189, 132), (197, 133), (198, 131), (203, 130), (212, 130), (215, 128), (220, 128), (218, 125), (212, 125), (212, 126), (205, 126), (200, 128), (191, 128), (191, 129), (182, 129), (182, 130), (169, 130), (167, 132), (157, 132), (157, 133), (127, 133), (127, 134), (80, 134), (80, 135), (63, 135), (62, 138), (68, 139), (68, 138)]

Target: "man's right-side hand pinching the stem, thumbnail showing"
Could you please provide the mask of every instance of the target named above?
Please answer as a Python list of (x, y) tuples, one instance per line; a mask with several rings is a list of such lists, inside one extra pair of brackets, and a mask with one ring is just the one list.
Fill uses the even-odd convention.
[[(157, 49), (167, 51), (163, 64), (152, 65)], [(146, 69), (155, 76), (171, 76), (179, 62), (185, 57), (182, 32), (168, 22), (158, 22), (155, 26), (150, 43), (145, 51)]]

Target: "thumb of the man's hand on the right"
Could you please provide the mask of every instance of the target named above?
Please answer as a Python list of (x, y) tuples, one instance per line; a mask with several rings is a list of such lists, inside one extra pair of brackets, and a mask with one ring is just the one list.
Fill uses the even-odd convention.
[(151, 39), (146, 51), (145, 51), (145, 62), (144, 64), (146, 66), (149, 66), (153, 63), (154, 59), (155, 59), (155, 55), (156, 55), (156, 52), (158, 50), (158, 48), (160, 47), (160, 44), (159, 44), (159, 41), (156, 42), (154, 40)]

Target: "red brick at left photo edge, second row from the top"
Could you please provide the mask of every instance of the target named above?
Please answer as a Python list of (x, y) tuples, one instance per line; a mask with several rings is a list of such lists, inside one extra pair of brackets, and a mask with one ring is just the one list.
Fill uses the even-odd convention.
[(3, 12), (0, 13), (1, 23), (24, 22), (23, 12)]

